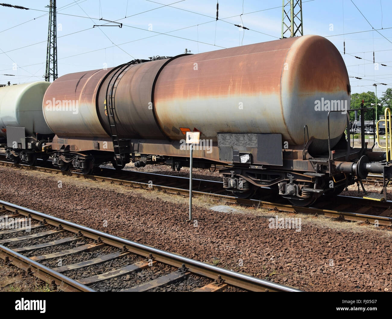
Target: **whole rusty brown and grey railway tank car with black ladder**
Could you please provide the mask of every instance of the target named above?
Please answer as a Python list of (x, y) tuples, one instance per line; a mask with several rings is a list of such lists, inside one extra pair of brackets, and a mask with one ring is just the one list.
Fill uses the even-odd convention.
[(44, 148), (62, 170), (130, 160), (180, 170), (189, 165), (186, 132), (200, 131), (194, 165), (223, 166), (224, 188), (249, 197), (270, 187), (309, 205), (354, 177), (389, 170), (385, 153), (364, 140), (350, 147), (349, 108), (339, 51), (321, 36), (300, 36), (64, 75), (44, 96), (56, 133)]

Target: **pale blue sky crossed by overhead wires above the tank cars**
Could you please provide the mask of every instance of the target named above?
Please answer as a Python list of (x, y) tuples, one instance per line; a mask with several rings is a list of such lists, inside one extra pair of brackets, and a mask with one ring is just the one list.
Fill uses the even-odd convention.
[[(379, 30), (381, 35), (377, 31), (360, 32), (372, 27), (352, 1), (374, 29), (383, 27)], [(392, 86), (392, 1), (352, 1), (303, 0), (304, 35), (325, 36), (342, 54), (345, 40), (349, 54), (343, 58), (348, 73), (363, 78), (350, 78), (352, 93), (375, 91), (373, 83), (387, 83), (388, 86), (377, 87), (377, 95), (381, 96)], [(41, 80), (48, 29), (45, 6), (49, 0), (7, 3), (30, 10), (0, 7), (0, 84)], [(168, 4), (172, 7), (165, 6)], [(220, 0), (220, 20), (216, 22), (213, 0), (57, 0), (58, 74), (98, 69), (105, 63), (108, 67), (117, 66), (133, 58), (174, 56), (185, 49), (198, 53), (278, 39), (281, 5), (281, 0)], [(118, 20), (123, 27), (93, 28), (94, 24), (104, 23), (95, 20), (101, 17)], [(250, 30), (240, 30), (233, 24)], [(386, 67), (379, 64), (379, 69), (374, 69), (373, 51), (376, 62)]]

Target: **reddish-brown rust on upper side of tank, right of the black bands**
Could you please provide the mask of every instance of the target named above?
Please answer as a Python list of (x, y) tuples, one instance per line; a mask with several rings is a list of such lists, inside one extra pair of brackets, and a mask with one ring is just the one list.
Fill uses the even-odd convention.
[[(278, 94), (282, 61), (294, 40), (284, 39), (279, 43), (265, 42), (176, 58), (163, 69), (160, 78), (164, 81), (158, 78), (156, 97), (219, 97), (227, 91), (230, 95), (271, 93), (271, 87), (276, 87)], [(198, 81), (198, 78), (203, 78), (203, 81)], [(166, 90), (165, 82), (173, 82), (175, 91)]]

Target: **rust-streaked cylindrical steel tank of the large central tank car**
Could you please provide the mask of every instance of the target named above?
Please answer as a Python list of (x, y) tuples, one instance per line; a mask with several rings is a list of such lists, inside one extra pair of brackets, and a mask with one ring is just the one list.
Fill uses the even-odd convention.
[[(107, 137), (106, 92), (116, 68), (65, 75), (44, 98), (59, 136)], [(115, 112), (123, 138), (181, 140), (181, 129), (216, 141), (218, 132), (280, 133), (289, 144), (313, 138), (310, 153), (328, 150), (344, 133), (350, 108), (347, 69), (327, 39), (307, 35), (132, 64), (116, 82)], [(75, 100), (78, 113), (45, 108)], [(344, 106), (344, 107), (343, 107)], [(60, 109), (60, 108), (59, 108)], [(57, 113), (57, 114), (56, 114)]]

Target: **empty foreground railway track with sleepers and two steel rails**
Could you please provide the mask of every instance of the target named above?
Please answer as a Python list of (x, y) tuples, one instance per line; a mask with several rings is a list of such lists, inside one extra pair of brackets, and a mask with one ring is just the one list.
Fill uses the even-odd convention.
[[(15, 220), (24, 227), (5, 229)], [(182, 283), (203, 292), (300, 291), (4, 201), (0, 221), (0, 258), (57, 290), (162, 291)]]

